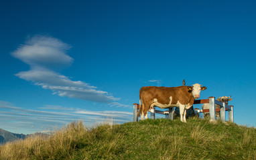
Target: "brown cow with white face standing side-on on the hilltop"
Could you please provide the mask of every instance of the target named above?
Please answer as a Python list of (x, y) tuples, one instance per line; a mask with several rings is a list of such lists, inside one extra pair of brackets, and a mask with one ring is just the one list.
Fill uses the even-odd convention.
[(200, 91), (206, 89), (201, 86), (196, 83), (192, 87), (141, 87), (138, 116), (141, 114), (141, 119), (144, 119), (145, 115), (145, 119), (147, 119), (147, 111), (154, 106), (162, 109), (180, 107), (180, 121), (186, 122), (186, 109), (192, 107), (194, 99), (200, 97)]

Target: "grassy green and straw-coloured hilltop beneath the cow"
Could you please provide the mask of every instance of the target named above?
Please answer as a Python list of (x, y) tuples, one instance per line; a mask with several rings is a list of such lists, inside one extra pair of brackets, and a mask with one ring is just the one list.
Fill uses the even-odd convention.
[(0, 159), (256, 159), (256, 129), (204, 119), (147, 119), (87, 129), (70, 123), (0, 147)]

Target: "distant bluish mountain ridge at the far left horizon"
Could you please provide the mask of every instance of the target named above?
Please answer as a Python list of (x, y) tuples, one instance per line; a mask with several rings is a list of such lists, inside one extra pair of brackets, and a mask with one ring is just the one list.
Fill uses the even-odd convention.
[[(46, 133), (34, 133), (31, 135), (47, 135)], [(0, 129), (0, 145), (3, 145), (9, 141), (15, 141), (18, 139), (25, 139), (26, 137), (29, 137), (31, 135), (23, 135), (21, 134), (17, 134), (17, 133), (11, 133), (9, 131), (5, 131), (3, 129)]]

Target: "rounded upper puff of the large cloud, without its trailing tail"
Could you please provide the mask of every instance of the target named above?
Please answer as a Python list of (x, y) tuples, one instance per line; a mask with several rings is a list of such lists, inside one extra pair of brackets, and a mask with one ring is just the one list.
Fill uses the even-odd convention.
[(66, 54), (68, 49), (70, 45), (59, 39), (36, 35), (20, 45), (12, 55), (30, 67), (52, 67), (72, 63), (73, 59)]

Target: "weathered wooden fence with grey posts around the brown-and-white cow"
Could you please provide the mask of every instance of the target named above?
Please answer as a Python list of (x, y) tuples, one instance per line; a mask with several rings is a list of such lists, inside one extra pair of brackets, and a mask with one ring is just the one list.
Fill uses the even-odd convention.
[[(209, 109), (194, 109), (196, 113), (210, 113), (210, 121), (216, 121), (216, 111), (220, 111), (220, 121), (226, 121), (226, 111), (229, 112), (229, 121), (234, 122), (233, 105), (227, 105), (224, 102), (217, 101), (215, 97), (208, 97), (208, 99), (198, 99), (194, 101), (194, 105), (209, 103)], [(215, 104), (220, 105), (220, 109), (215, 108)], [(137, 112), (139, 111), (139, 104), (133, 103), (133, 121), (138, 121)], [(166, 119), (174, 119), (174, 107), (169, 108), (168, 111), (159, 111), (155, 107), (149, 109), (150, 118), (155, 119), (155, 113), (166, 115)]]

